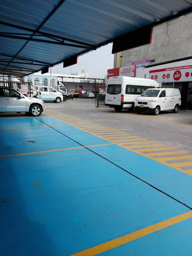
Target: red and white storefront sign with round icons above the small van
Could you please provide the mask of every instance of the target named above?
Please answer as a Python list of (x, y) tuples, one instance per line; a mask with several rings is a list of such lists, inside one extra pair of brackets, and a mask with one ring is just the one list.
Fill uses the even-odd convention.
[(157, 82), (191, 81), (192, 65), (150, 70), (149, 79)]

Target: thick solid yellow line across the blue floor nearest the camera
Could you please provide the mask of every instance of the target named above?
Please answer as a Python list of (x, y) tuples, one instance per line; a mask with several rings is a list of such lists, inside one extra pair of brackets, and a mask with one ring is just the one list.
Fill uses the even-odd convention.
[(136, 240), (136, 239), (138, 239), (140, 237), (143, 237), (147, 234), (151, 234), (151, 233), (154, 233), (158, 230), (166, 228), (168, 226), (172, 226), (172, 225), (174, 225), (176, 223), (179, 223), (179, 222), (181, 222), (185, 219), (188, 219), (190, 217), (192, 217), (192, 211), (191, 210), (187, 211), (183, 214), (180, 214), (178, 216), (175, 216), (175, 217), (166, 219), (164, 221), (158, 222), (154, 225), (144, 227), (144, 228), (142, 228), (140, 230), (137, 230), (137, 231), (134, 231), (132, 233), (129, 233), (129, 234), (120, 236), (118, 238), (115, 238), (113, 240), (101, 243), (99, 245), (88, 248), (86, 250), (71, 254), (70, 256), (94, 256), (94, 255), (97, 255), (97, 254), (102, 253), (104, 251), (116, 248), (116, 247), (118, 247), (122, 244), (125, 244), (127, 242)]

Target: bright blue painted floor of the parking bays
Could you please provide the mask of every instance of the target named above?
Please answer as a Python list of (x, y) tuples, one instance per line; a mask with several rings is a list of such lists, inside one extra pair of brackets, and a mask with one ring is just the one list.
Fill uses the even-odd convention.
[[(0, 255), (68, 256), (190, 211), (191, 176), (108, 143), (51, 117), (0, 118)], [(99, 255), (191, 255), (191, 221)]]

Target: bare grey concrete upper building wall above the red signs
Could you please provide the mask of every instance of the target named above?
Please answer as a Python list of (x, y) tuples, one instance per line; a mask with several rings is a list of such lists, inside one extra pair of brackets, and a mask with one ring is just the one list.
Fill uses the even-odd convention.
[[(192, 13), (153, 27), (150, 44), (122, 52), (122, 66), (134, 61), (150, 59), (155, 64), (192, 55)], [(116, 55), (116, 54), (114, 54)], [(116, 67), (116, 56), (114, 56)]]

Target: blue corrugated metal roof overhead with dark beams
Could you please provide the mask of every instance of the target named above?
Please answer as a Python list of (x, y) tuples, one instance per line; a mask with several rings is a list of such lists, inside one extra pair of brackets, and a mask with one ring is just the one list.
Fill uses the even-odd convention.
[(192, 0), (3, 0), (0, 73), (26, 75), (191, 6)]

